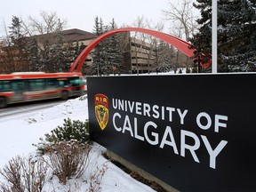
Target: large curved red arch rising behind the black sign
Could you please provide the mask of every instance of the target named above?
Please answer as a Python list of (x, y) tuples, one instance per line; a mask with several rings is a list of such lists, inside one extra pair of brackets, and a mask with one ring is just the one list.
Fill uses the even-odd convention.
[[(92, 49), (97, 44), (100, 43), (100, 41), (104, 40), (105, 38), (107, 38), (108, 36), (111, 36), (113, 34), (120, 33), (120, 32), (128, 32), (128, 31), (136, 31), (136, 32), (145, 33), (145, 34), (148, 34), (151, 36), (155, 36), (168, 44), (172, 44), (172, 46), (174, 46), (176, 49), (178, 49), (180, 52), (184, 53), (188, 57), (194, 56), (195, 49), (188, 48), (191, 44), (189, 44), (186, 41), (181, 40), (178, 37), (171, 36), (169, 34), (165, 34), (163, 32), (159, 32), (159, 31), (155, 31), (155, 30), (150, 30), (147, 28), (117, 28), (117, 29), (108, 31), (108, 32), (102, 34), (101, 36), (98, 36), (96, 39), (94, 39), (91, 42), (91, 44), (88, 44), (88, 46), (86, 46), (84, 48), (83, 52), (81, 52), (78, 55), (78, 57), (76, 58), (76, 60), (74, 61), (74, 63), (72, 64), (72, 66), (68, 72), (74, 72), (75, 69), (76, 69), (76, 72), (80, 72), (80, 70), (84, 64), (84, 60), (87, 58), (88, 54), (92, 51)], [(211, 64), (211, 62), (212, 62), (212, 60), (210, 60), (209, 62), (204, 64), (204, 66), (205, 67), (209, 66)], [(76, 68), (76, 66), (77, 66), (77, 68)]]

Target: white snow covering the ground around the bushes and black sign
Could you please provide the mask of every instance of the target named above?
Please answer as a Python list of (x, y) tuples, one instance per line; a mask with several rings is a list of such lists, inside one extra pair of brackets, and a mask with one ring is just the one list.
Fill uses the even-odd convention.
[[(28, 116), (17, 116), (14, 120), (6, 117), (1, 118), (0, 122), (0, 168), (8, 163), (15, 156), (28, 157), (36, 153), (36, 147), (39, 138), (45, 133), (50, 133), (52, 129), (64, 123), (64, 119), (85, 121), (88, 119), (87, 100), (68, 100), (63, 104), (56, 105), (52, 108), (44, 109), (40, 112), (28, 113)], [(108, 170), (100, 182), (101, 191), (104, 192), (131, 192), (131, 191), (154, 191), (152, 188), (140, 183), (115, 164), (108, 162), (100, 151), (105, 150), (99, 145), (94, 144), (92, 161), (89, 170), (94, 172), (95, 167), (107, 162)], [(43, 191), (89, 191), (90, 182), (84, 182), (84, 178), (68, 180), (65, 186), (60, 185), (57, 178), (49, 180)], [(4, 182), (0, 177), (0, 182)]]

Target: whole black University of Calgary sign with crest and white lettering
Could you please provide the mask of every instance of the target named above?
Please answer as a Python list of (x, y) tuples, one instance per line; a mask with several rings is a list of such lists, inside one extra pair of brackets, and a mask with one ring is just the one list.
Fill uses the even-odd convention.
[(88, 77), (92, 140), (180, 191), (256, 188), (256, 74)]

